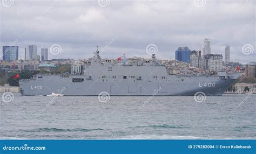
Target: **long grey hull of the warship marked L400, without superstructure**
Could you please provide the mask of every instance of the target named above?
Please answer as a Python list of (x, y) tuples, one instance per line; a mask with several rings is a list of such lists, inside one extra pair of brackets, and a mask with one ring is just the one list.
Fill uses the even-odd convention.
[[(65, 78), (66, 77), (66, 78)], [(74, 82), (74, 79), (83, 79)], [(87, 79), (85, 75), (36, 75), (19, 82), (22, 95), (205, 95), (220, 96), (235, 79), (217, 75), (176, 76), (166, 79)]]

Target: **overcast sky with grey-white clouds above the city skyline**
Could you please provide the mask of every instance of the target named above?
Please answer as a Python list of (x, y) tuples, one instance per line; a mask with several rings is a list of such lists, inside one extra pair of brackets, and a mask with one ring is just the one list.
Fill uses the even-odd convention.
[[(224, 55), (228, 44), (231, 61), (256, 61), (253, 0), (2, 0), (0, 32), (1, 46), (19, 46), (22, 59), (26, 45), (37, 45), (38, 54), (49, 48), (49, 59), (91, 58), (97, 45), (102, 58), (150, 58), (150, 44), (158, 59), (174, 59), (178, 47), (198, 50), (209, 38), (214, 54)], [(50, 52), (53, 44), (61, 52)]]

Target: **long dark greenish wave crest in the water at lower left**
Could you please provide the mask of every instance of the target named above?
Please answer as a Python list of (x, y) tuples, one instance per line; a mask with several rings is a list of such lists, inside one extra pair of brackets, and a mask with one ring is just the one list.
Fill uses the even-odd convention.
[(66, 132), (66, 131), (94, 131), (94, 130), (103, 130), (103, 129), (100, 129), (100, 128), (97, 128), (97, 129), (84, 129), (84, 128), (75, 128), (75, 129), (58, 129), (58, 128), (37, 128), (37, 129), (31, 129), (31, 130), (24, 130), (24, 131), (28, 131), (28, 132), (42, 132), (42, 131), (57, 131), (57, 132), (60, 132), (60, 131), (63, 131), (63, 132)]

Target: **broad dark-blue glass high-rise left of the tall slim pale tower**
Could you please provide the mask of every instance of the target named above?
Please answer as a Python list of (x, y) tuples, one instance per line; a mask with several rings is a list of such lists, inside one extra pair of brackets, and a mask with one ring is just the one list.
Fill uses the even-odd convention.
[(191, 50), (186, 47), (179, 47), (175, 52), (175, 59), (183, 62), (190, 62)]

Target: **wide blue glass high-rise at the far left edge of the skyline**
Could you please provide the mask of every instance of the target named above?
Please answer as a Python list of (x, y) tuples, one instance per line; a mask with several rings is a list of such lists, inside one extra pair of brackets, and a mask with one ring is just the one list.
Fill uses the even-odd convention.
[(3, 46), (3, 60), (14, 61), (18, 60), (19, 47), (18, 46)]

